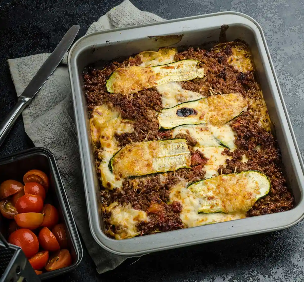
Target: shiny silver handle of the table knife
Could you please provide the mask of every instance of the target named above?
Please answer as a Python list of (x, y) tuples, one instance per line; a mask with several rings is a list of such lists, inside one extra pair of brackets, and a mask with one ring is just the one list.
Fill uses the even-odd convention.
[(19, 97), (14, 108), (9, 112), (4, 121), (0, 125), (0, 146), (9, 134), (14, 122), (19, 117), (23, 109), (29, 104), (31, 99), (26, 97)]

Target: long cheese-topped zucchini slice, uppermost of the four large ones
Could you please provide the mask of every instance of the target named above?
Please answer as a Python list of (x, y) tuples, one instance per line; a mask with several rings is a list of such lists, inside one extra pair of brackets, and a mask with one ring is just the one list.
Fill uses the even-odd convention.
[(107, 80), (110, 93), (131, 94), (171, 81), (186, 81), (204, 77), (204, 68), (197, 60), (181, 60), (153, 67), (118, 68)]

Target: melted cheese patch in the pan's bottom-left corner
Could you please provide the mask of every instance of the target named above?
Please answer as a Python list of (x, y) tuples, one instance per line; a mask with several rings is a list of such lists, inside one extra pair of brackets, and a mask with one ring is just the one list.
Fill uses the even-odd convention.
[(135, 210), (130, 204), (121, 206), (117, 202), (114, 202), (106, 210), (108, 213), (111, 212), (109, 222), (115, 225), (116, 240), (132, 238), (140, 234), (136, 225), (150, 220), (146, 212)]

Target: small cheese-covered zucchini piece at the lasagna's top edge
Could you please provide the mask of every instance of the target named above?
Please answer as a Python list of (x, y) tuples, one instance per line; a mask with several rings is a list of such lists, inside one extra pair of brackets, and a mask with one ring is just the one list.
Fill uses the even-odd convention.
[(174, 62), (174, 55), (177, 49), (173, 47), (161, 47), (158, 51), (143, 51), (136, 56), (139, 57), (142, 63), (140, 67), (151, 67), (154, 65), (165, 65)]

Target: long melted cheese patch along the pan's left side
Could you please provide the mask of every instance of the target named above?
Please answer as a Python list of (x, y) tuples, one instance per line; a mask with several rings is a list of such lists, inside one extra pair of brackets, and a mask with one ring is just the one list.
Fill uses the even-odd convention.
[(115, 108), (107, 104), (93, 110), (90, 125), (92, 142), (96, 144), (99, 141), (102, 148), (102, 151), (98, 153), (98, 158), (102, 160), (98, 167), (102, 186), (107, 189), (121, 188), (123, 180), (116, 178), (108, 166), (112, 156), (120, 149), (114, 136), (125, 132), (131, 133), (134, 127), (130, 121), (122, 119)]

